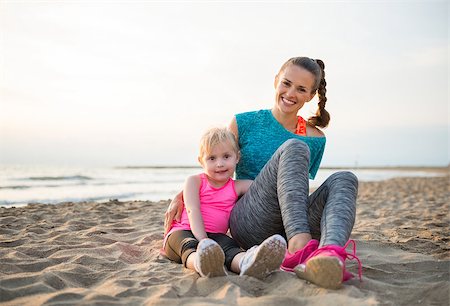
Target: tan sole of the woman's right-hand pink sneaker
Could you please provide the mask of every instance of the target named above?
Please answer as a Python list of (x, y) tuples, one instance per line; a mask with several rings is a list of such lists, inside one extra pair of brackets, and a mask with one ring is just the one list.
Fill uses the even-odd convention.
[(343, 265), (335, 257), (318, 256), (307, 261), (306, 265), (294, 268), (295, 274), (322, 288), (338, 289), (342, 284)]

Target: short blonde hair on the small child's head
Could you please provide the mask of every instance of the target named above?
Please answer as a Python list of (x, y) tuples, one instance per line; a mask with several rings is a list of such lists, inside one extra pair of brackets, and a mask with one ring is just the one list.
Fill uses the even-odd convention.
[(239, 154), (239, 145), (233, 132), (225, 127), (214, 127), (207, 130), (200, 139), (200, 157), (204, 157), (211, 153), (212, 148), (219, 143), (228, 142), (233, 151)]

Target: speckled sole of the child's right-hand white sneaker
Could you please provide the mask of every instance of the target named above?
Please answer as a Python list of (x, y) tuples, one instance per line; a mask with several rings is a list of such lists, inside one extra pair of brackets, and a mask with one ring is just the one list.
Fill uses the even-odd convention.
[(281, 236), (275, 236), (273, 239), (266, 240), (260, 245), (253, 262), (240, 275), (264, 279), (270, 273), (280, 268), (285, 253), (286, 242)]

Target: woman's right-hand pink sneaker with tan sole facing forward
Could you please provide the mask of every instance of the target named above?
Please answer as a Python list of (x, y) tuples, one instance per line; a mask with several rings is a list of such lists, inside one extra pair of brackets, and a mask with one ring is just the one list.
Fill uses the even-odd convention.
[[(347, 253), (347, 246), (353, 243), (353, 253)], [(361, 261), (356, 257), (356, 244), (349, 240), (345, 246), (326, 245), (312, 252), (304, 263), (295, 267), (295, 274), (323, 288), (337, 289), (342, 282), (349, 280), (353, 274), (345, 270), (345, 260), (358, 261), (359, 279), (362, 279)]]

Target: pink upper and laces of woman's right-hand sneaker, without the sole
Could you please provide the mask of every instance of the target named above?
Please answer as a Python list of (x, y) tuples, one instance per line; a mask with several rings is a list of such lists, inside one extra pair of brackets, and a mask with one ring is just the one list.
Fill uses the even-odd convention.
[[(353, 253), (347, 253), (347, 246), (352, 243), (353, 244)], [(358, 262), (358, 276), (359, 280), (362, 281), (362, 264), (359, 258), (356, 256), (356, 243), (354, 240), (349, 240), (347, 243), (341, 247), (339, 245), (326, 245), (324, 247), (321, 247), (320, 249), (317, 249), (313, 253), (311, 253), (308, 258), (306, 258), (305, 262), (310, 260), (311, 258), (315, 256), (336, 256), (339, 257), (342, 260), (343, 266), (343, 274), (342, 274), (342, 281), (345, 282), (351, 278), (353, 278), (353, 274), (346, 271), (345, 269), (345, 260), (356, 260)]]

